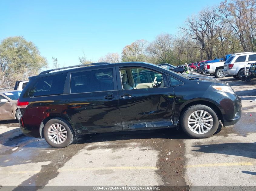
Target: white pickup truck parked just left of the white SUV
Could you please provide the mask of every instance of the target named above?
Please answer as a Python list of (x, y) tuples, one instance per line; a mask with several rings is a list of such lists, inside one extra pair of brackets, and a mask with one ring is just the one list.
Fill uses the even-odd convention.
[(213, 62), (204, 64), (204, 73), (213, 74), (216, 78), (224, 78), (224, 62)]

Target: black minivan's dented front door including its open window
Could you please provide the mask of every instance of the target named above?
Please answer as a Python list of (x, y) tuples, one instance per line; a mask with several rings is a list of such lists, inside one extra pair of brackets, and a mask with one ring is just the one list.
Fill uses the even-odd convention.
[(117, 66), (116, 70), (124, 130), (174, 125), (174, 89), (166, 74), (143, 67)]

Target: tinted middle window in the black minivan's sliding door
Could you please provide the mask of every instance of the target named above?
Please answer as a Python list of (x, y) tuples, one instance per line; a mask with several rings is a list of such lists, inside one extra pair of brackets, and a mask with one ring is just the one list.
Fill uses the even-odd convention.
[(71, 93), (114, 90), (113, 69), (99, 69), (71, 74)]

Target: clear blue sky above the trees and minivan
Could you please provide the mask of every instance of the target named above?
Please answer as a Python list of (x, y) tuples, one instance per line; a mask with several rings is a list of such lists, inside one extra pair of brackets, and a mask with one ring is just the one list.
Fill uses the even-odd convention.
[(154, 40), (178, 27), (203, 7), (221, 0), (1, 1), (0, 40), (23, 36), (38, 46), (52, 67), (76, 65), (78, 56), (98, 61), (138, 39)]

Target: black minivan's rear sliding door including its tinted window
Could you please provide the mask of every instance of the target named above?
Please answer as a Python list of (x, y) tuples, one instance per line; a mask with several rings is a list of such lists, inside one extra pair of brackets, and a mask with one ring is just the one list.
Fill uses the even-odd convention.
[(63, 107), (78, 133), (121, 131), (115, 67), (70, 74)]

